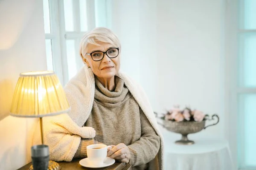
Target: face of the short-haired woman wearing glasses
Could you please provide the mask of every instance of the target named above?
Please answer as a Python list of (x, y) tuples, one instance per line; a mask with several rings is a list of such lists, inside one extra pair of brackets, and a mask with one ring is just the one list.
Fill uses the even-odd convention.
[[(85, 48), (86, 53), (92, 53), (93, 51), (102, 51), (105, 52), (110, 48), (117, 48), (114, 47), (111, 44), (105, 43), (105, 42), (99, 42), (99, 45), (93, 45), (88, 44)], [(102, 78), (102, 79), (109, 79), (114, 77), (120, 68), (120, 59), (119, 54), (115, 58), (109, 58), (106, 54), (104, 54), (104, 57), (100, 61), (94, 61), (92, 57), (87, 54), (84, 56), (84, 62), (87, 64), (87, 66), (90, 66), (93, 73), (96, 75), (96, 77)]]

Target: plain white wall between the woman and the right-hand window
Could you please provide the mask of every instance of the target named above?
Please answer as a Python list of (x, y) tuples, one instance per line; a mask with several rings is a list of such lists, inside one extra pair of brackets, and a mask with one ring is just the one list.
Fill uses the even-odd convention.
[(141, 83), (154, 111), (180, 104), (217, 113), (218, 125), (191, 136), (224, 138), (223, 0), (112, 4), (111, 28), (122, 43), (121, 68)]

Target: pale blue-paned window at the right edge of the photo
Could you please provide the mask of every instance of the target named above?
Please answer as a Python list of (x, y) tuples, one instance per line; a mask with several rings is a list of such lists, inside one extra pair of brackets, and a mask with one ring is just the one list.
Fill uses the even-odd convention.
[(256, 170), (256, 0), (239, 0), (238, 102), (239, 168)]

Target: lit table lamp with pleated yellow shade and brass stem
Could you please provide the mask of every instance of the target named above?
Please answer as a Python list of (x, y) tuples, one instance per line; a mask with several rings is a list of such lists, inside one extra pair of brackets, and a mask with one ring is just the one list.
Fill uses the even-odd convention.
[[(53, 116), (70, 111), (66, 94), (53, 71), (30, 71), (21, 73), (17, 81), (10, 115), (39, 117), (41, 142), (44, 144), (44, 116)], [(53, 167), (54, 166), (54, 167)], [(58, 170), (57, 162), (49, 161), (49, 167)]]

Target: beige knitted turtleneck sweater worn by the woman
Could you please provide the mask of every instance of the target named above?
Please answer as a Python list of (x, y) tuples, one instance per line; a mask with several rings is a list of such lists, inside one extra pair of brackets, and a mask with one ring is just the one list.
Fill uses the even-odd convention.
[[(138, 103), (116, 77), (115, 91), (108, 91), (95, 79), (95, 96), (92, 113), (85, 126), (96, 130), (95, 140), (107, 145), (124, 143), (131, 154), (133, 170), (145, 170), (160, 147), (160, 137), (150, 125)], [(86, 156), (86, 146), (93, 140), (82, 139), (75, 157)]]

